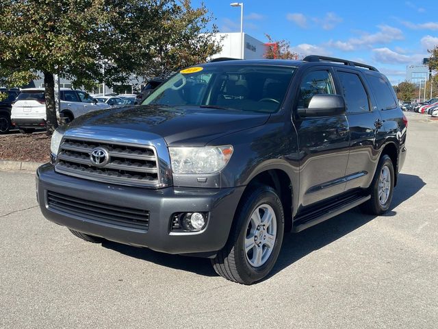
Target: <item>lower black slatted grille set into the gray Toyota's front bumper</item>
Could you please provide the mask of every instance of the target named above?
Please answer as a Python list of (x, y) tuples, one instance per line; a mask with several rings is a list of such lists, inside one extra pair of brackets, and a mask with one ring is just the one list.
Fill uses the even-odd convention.
[(144, 231), (149, 228), (149, 210), (92, 202), (52, 191), (47, 191), (47, 204), (49, 209), (66, 215), (75, 215), (83, 219), (109, 223), (123, 228)]

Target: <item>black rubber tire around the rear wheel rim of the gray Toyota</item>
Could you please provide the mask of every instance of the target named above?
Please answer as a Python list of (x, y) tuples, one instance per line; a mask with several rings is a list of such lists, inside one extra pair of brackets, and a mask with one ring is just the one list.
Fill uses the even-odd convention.
[[(379, 182), (383, 168), (389, 169), (389, 177), (391, 182), (389, 184), (389, 195), (387, 200), (382, 204), (379, 198)], [(361, 210), (370, 215), (382, 215), (389, 210), (394, 193), (394, 164), (387, 154), (384, 154), (378, 162), (376, 173), (370, 186), (371, 199), (364, 204), (361, 204)]]

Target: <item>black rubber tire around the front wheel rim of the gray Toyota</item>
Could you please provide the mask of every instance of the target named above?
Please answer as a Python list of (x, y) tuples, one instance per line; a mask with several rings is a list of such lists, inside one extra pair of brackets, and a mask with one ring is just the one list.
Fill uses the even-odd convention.
[[(244, 250), (244, 241), (248, 234), (248, 225), (253, 212), (263, 205), (268, 205), (276, 217), (276, 239), (272, 252), (260, 267), (253, 267)], [(233, 226), (227, 244), (211, 260), (216, 273), (227, 280), (240, 284), (253, 284), (268, 275), (279, 256), (284, 234), (284, 212), (281, 200), (276, 191), (270, 186), (255, 185), (242, 198), (235, 213)], [(263, 226), (264, 227), (264, 226)], [(263, 249), (263, 246), (261, 247)]]

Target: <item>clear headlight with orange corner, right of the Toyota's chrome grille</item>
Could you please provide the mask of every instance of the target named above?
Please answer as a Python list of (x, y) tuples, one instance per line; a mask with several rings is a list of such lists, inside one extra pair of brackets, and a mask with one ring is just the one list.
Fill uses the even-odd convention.
[(169, 147), (173, 173), (216, 173), (229, 162), (233, 147)]

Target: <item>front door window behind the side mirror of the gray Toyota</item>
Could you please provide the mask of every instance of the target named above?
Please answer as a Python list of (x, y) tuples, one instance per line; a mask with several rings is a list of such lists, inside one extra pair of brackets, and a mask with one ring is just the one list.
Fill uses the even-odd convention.
[(329, 71), (313, 71), (302, 79), (298, 108), (308, 108), (311, 98), (316, 94), (335, 94)]

